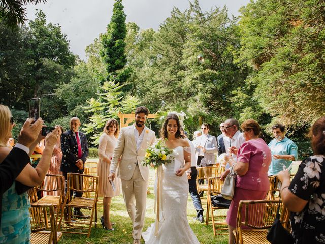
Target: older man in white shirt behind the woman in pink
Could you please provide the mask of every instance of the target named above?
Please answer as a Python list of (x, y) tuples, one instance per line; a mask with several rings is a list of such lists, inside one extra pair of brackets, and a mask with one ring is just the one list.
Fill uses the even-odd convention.
[[(234, 154), (234, 151), (237, 151), (239, 147), (245, 142), (245, 138), (243, 136), (243, 133), (241, 133), (239, 130), (239, 123), (236, 119), (229, 118), (225, 120), (223, 126), (225, 135), (230, 138), (229, 141), (224, 138), (226, 151), (228, 151), (228, 153), (231, 154), (233, 159), (236, 161), (237, 156)], [(228, 168), (229, 165), (227, 164), (226, 169)]]

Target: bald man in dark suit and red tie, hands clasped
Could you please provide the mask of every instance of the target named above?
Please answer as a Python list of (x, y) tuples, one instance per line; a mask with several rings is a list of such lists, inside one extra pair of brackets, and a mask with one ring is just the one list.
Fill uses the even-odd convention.
[[(67, 180), (67, 173), (83, 174), (84, 163), (89, 155), (87, 137), (79, 131), (81, 126), (77, 117), (70, 119), (70, 130), (61, 134), (62, 164), (61, 171)], [(72, 192), (70, 196), (72, 196)], [(75, 192), (76, 197), (82, 197), (82, 192)], [(74, 215), (83, 216), (79, 208), (75, 208)]]

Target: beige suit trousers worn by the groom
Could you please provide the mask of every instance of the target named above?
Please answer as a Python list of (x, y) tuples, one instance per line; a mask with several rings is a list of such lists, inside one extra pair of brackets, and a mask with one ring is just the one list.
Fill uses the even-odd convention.
[(144, 181), (139, 166), (130, 180), (121, 179), (122, 192), (128, 215), (133, 224), (133, 238), (140, 239), (146, 213), (148, 181)]

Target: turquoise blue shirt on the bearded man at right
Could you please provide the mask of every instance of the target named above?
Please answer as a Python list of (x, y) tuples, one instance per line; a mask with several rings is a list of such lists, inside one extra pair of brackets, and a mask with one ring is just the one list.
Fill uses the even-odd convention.
[[(272, 156), (275, 154), (280, 155), (293, 155), (295, 157), (295, 160), (298, 158), (298, 146), (295, 142), (291, 141), (287, 137), (284, 137), (283, 140), (277, 141), (276, 139), (273, 139), (269, 143), (269, 148), (271, 150)], [(274, 175), (283, 170), (283, 165), (285, 165), (286, 168), (290, 166), (292, 163), (292, 160), (285, 160), (285, 159), (274, 159), (272, 157), (272, 162), (269, 167), (269, 175)]]

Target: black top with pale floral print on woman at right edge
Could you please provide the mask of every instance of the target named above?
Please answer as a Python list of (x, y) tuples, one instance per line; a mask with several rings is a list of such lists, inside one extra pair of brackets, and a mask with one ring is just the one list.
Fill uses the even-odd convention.
[(325, 156), (305, 159), (289, 190), (308, 201), (301, 212), (291, 212), (295, 243), (325, 243)]

